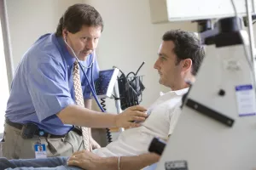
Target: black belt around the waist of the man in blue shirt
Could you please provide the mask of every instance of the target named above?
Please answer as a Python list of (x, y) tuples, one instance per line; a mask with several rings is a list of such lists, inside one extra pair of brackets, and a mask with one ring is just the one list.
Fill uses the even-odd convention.
[[(11, 122), (11, 121), (9, 121), (9, 119), (6, 119), (5, 122), (6, 122), (9, 126), (15, 127), (15, 128), (17, 128), (17, 129), (19, 129), (19, 130), (22, 130), (22, 128), (24, 127), (23, 124), (18, 123), (18, 122)], [(75, 132), (75, 133), (78, 133), (80, 136), (82, 136), (82, 131), (81, 131), (79, 128), (73, 127), (72, 131)], [(44, 134), (42, 135), (42, 133), (40, 133), (40, 132), (42, 132), (42, 130), (40, 130), (40, 129), (38, 128), (38, 129), (36, 130), (36, 132), (35, 132), (35, 135), (38, 135), (38, 136), (41, 136), (41, 137), (45, 137), (45, 138), (64, 138), (64, 137), (66, 136), (66, 134), (63, 134), (63, 135), (55, 135), (55, 134), (46, 133), (46, 132), (44, 132), (44, 131), (43, 131)], [(40, 133), (40, 134), (39, 134), (39, 133)]]

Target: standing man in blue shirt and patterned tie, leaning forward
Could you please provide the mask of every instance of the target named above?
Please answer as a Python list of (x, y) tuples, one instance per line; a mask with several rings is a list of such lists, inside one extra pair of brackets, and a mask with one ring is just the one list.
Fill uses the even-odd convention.
[[(39, 37), (24, 54), (5, 114), (4, 157), (70, 156), (100, 147), (85, 127), (137, 127), (131, 121), (145, 120), (141, 106), (119, 115), (90, 110), (89, 83), (75, 57), (94, 82), (99, 71), (95, 48), (102, 30), (95, 8), (75, 4), (67, 8), (55, 33)], [(44, 149), (40, 155), (38, 146)]]

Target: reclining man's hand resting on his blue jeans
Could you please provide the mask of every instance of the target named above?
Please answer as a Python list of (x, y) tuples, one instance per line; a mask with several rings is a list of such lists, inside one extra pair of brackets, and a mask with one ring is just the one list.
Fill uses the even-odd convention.
[(100, 161), (100, 159), (102, 159), (100, 156), (97, 156), (90, 151), (81, 150), (73, 153), (73, 156), (67, 160), (67, 165), (81, 167), (88, 170), (97, 170), (99, 169), (98, 161)]

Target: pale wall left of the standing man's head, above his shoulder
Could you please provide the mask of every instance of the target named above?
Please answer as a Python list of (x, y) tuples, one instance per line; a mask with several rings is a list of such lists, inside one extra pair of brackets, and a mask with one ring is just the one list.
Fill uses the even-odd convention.
[(9, 31), (14, 67), (22, 55), (45, 33), (55, 31), (61, 15), (82, 0), (7, 0)]

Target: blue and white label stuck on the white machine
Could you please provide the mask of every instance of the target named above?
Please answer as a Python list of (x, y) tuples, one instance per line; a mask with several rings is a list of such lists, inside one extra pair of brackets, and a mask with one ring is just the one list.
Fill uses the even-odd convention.
[(256, 114), (256, 104), (253, 86), (236, 86), (236, 101), (239, 116), (253, 116)]

